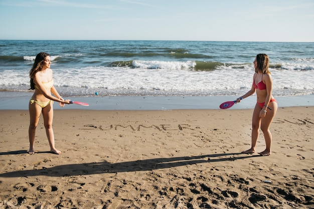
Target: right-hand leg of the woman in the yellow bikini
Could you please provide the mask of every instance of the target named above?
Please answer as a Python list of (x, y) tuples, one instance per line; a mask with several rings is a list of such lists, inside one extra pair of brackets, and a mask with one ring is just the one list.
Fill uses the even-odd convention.
[(53, 121), (53, 103), (51, 102), (47, 107), (44, 107), (42, 110), (44, 117), (44, 126), (46, 129), (47, 138), (50, 145), (50, 152), (55, 154), (60, 154), (61, 151), (57, 150), (55, 147), (55, 136), (52, 129), (52, 121)]

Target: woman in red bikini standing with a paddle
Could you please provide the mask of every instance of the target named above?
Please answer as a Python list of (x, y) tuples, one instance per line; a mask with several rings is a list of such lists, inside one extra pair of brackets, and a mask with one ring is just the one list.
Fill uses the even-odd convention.
[(250, 149), (245, 150), (242, 153), (255, 153), (260, 128), (264, 133), (266, 149), (259, 152), (259, 154), (266, 156), (271, 154), (272, 136), (269, 127), (276, 114), (278, 106), (276, 100), (272, 96), (272, 79), (268, 70), (268, 55), (258, 54), (253, 64), (255, 73), (253, 76), (252, 88), (242, 97), (236, 99), (236, 102), (240, 102), (241, 99), (251, 96), (255, 92), (257, 96), (257, 102), (252, 117), (252, 145)]

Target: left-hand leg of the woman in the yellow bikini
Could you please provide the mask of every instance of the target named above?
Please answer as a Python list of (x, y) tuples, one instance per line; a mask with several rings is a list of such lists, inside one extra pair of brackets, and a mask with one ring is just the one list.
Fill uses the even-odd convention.
[(29, 103), (29, 112), (30, 112), (30, 126), (29, 126), (29, 140), (30, 140), (30, 149), (27, 151), (29, 154), (35, 154), (35, 132), (36, 127), (39, 122), (40, 114), (42, 108), (36, 103)]

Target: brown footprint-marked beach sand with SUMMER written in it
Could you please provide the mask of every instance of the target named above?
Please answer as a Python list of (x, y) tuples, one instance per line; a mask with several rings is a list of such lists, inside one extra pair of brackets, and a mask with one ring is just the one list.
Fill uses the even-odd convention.
[(252, 109), (55, 110), (60, 155), (0, 115), (0, 208), (314, 208), (313, 106), (278, 109), (270, 156), (240, 153)]

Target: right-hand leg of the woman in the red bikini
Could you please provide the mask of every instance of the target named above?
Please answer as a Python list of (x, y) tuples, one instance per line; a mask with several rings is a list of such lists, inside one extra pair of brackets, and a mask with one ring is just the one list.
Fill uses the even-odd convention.
[(272, 141), (272, 136), (269, 130), (270, 124), (273, 120), (273, 118), (276, 115), (278, 105), (276, 102), (270, 102), (268, 106), (271, 108), (271, 110), (267, 109), (266, 116), (262, 118), (261, 120), (261, 130), (264, 133), (265, 137), (265, 144), (266, 144), (266, 149), (262, 152), (259, 152), (260, 155), (265, 156), (265, 155), (270, 155), (271, 154), (271, 141)]

